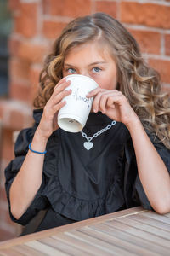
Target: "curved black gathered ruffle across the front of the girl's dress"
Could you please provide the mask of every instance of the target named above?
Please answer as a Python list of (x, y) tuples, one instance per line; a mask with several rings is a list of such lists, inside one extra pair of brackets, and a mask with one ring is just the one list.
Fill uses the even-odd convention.
[[(48, 148), (48, 154), (46, 154), (43, 170), (46, 184), (42, 190), (42, 195), (48, 198), (54, 211), (67, 218), (78, 221), (94, 218), (120, 209), (124, 204), (124, 197), (119, 187), (118, 180), (114, 181), (104, 198), (95, 200), (83, 200), (63, 188), (57, 170), (59, 168), (58, 162), (60, 159), (58, 134), (59, 133), (55, 131), (54, 135), (50, 137), (48, 141), (50, 147)], [(120, 166), (120, 168), (122, 168), (122, 166)], [(113, 201), (114, 204), (112, 203)]]

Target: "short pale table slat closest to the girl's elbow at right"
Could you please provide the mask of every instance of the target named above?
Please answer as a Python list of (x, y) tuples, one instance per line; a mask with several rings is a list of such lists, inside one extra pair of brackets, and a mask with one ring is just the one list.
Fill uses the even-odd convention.
[(127, 218), (136, 220), (142, 224), (147, 224), (149, 226), (153, 226), (160, 230), (165, 230), (165, 231), (169, 232), (169, 236), (170, 236), (170, 224), (163, 223), (163, 222), (153, 219), (153, 218), (144, 217), (140, 214), (134, 214), (131, 216), (127, 216)]

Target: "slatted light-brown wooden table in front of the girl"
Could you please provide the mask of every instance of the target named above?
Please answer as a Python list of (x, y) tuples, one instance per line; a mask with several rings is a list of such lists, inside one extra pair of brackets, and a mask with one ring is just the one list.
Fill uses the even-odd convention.
[(170, 213), (134, 207), (0, 242), (0, 255), (170, 255)]

